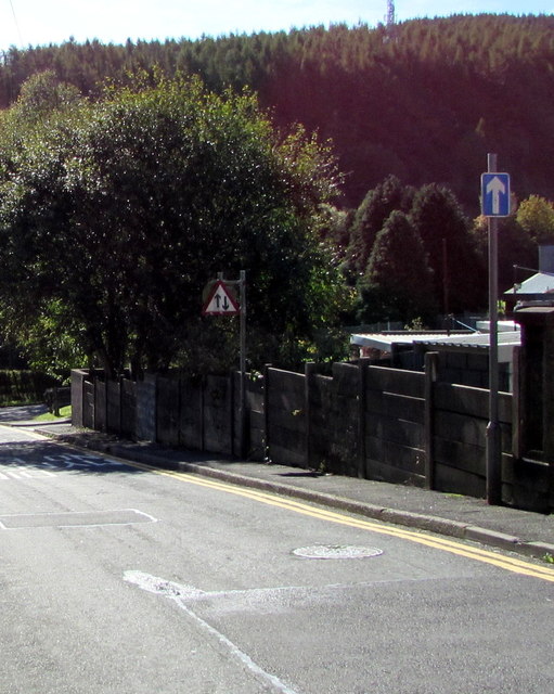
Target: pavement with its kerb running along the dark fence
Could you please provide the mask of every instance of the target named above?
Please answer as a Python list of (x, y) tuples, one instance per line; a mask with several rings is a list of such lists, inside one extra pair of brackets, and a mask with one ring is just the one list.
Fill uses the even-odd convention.
[(0, 410), (0, 424), (29, 427), (57, 442), (123, 460), (204, 475), (386, 523), (554, 561), (554, 514), (493, 506), (484, 499), (417, 487), (235, 460), (150, 441), (129, 441), (111, 434), (74, 427), (69, 420), (33, 422), (30, 417), (36, 416), (36, 409), (4, 408)]

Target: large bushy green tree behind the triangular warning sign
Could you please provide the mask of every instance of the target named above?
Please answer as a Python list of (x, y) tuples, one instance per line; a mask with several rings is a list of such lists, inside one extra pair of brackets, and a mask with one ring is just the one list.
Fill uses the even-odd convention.
[(293, 343), (310, 345), (340, 306), (317, 239), (331, 153), (301, 129), (280, 139), (252, 94), (145, 77), (37, 123), (15, 116), (0, 151), (0, 288), (22, 322), (65, 307), (108, 373), (166, 369), (197, 345), (218, 271), (248, 271), (260, 360), (301, 356)]

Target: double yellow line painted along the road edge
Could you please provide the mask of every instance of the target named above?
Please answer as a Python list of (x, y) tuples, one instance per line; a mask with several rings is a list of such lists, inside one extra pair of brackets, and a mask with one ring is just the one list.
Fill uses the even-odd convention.
[(218, 481), (216, 479), (209, 479), (193, 475), (192, 473), (180, 473), (167, 470), (160, 470), (144, 465), (142, 463), (134, 463), (125, 461), (127, 465), (138, 467), (147, 472), (153, 472), (157, 475), (164, 475), (185, 481), (190, 485), (196, 485), (198, 487), (206, 487), (208, 489), (217, 489), (226, 493), (234, 494), (236, 497), (244, 497), (253, 501), (258, 501), (270, 506), (276, 506), (286, 511), (293, 511), (305, 516), (312, 518), (319, 518), (321, 520), (327, 520), (330, 523), (337, 523), (339, 525), (346, 525), (351, 528), (358, 528), (360, 530), (369, 530), (371, 532), (378, 532), (379, 535), (387, 535), (394, 538), (401, 538), (402, 540), (409, 540), (410, 542), (417, 542), (436, 550), (442, 550), (450, 552), (451, 554), (458, 554), (459, 556), (465, 556), (477, 562), (490, 564), (498, 568), (513, 571), (514, 574), (520, 574), (523, 576), (530, 576), (532, 578), (540, 578), (545, 581), (554, 583), (554, 569), (549, 566), (541, 566), (539, 564), (532, 564), (524, 560), (519, 560), (513, 556), (505, 556), (503, 554), (497, 554), (489, 550), (484, 550), (478, 547), (472, 547), (469, 544), (462, 544), (455, 540), (449, 540), (448, 538), (435, 537), (426, 535), (424, 532), (416, 532), (408, 530), (397, 526), (386, 526), (374, 520), (365, 520), (364, 518), (348, 516), (343, 513), (330, 511), (327, 509), (312, 506), (294, 499), (287, 499), (284, 497), (278, 497), (257, 489), (243, 488), (229, 483)]

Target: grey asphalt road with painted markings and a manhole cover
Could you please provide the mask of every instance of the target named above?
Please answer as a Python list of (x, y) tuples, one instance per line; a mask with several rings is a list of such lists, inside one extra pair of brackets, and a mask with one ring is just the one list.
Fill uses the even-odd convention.
[(0, 426), (2, 694), (550, 694), (552, 577)]

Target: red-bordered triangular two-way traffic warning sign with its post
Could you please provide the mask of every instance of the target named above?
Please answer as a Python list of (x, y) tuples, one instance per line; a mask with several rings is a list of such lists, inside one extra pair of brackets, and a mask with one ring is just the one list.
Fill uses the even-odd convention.
[[(208, 285), (209, 286), (209, 285)], [(236, 303), (230, 286), (239, 286), (240, 295)], [(239, 280), (223, 280), (223, 273), (218, 272), (218, 279), (207, 294), (202, 310), (204, 316), (236, 316), (240, 317), (240, 441), (241, 457), (246, 457), (246, 271), (241, 270)]]

